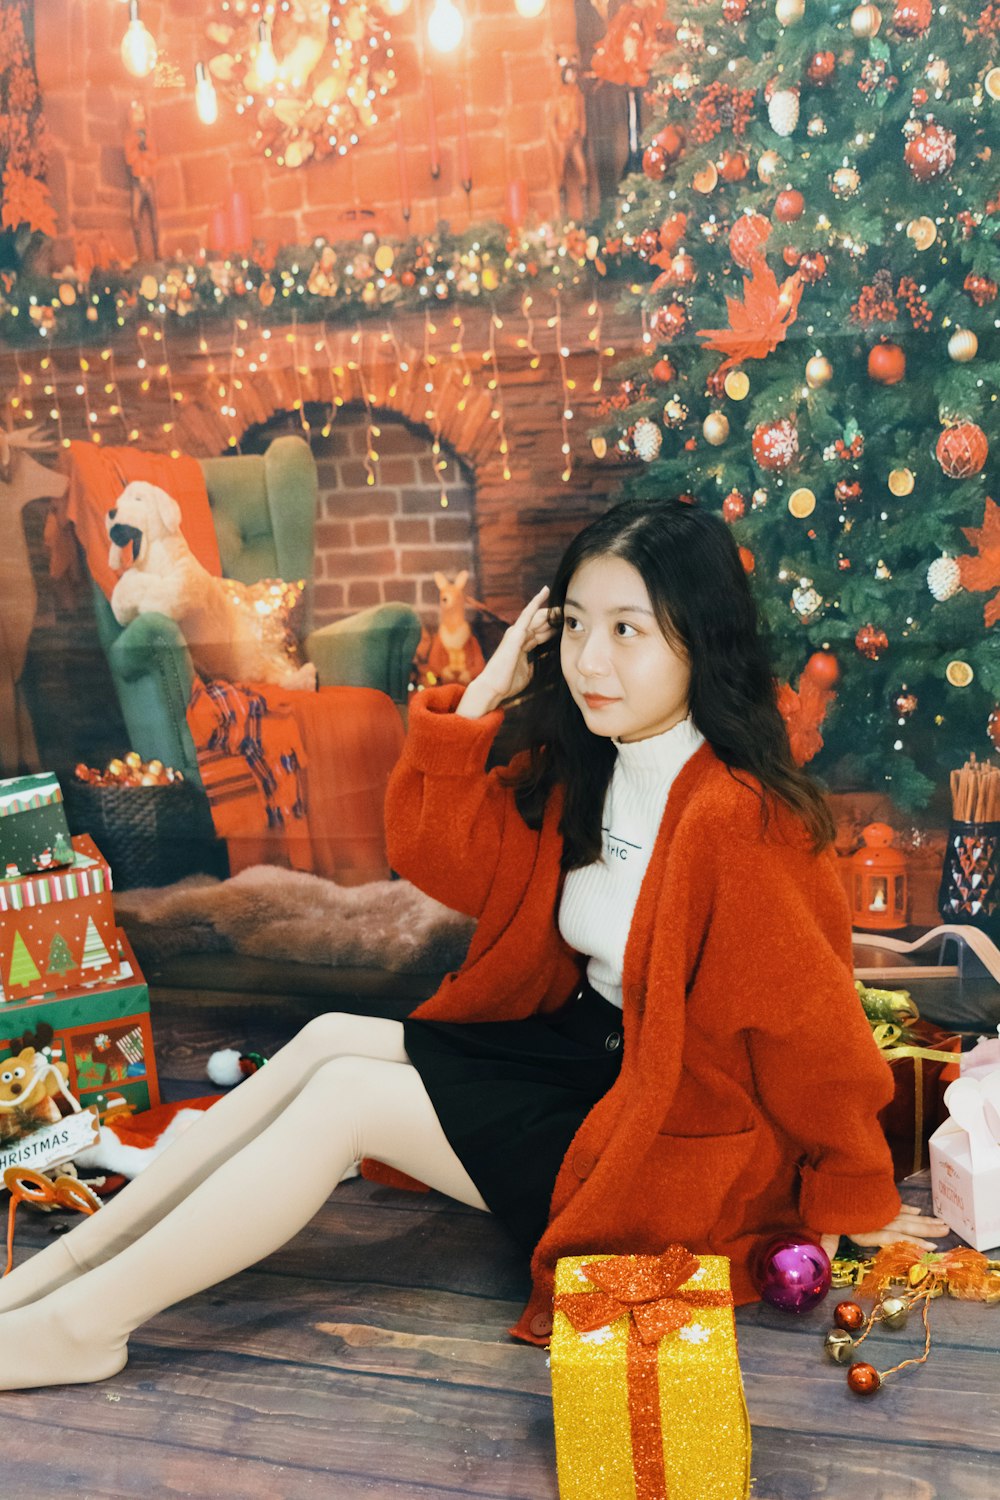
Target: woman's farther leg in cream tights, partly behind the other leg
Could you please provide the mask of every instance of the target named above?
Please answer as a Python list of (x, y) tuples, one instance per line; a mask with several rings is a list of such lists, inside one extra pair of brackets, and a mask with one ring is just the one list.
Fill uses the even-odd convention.
[[(376, 1016), (331, 1012), (307, 1022), (273, 1059), (219, 1100), (91, 1218), (0, 1281), (0, 1312), (24, 1306), (115, 1256), (265, 1130), (333, 1058), (405, 1064), (403, 1028)], [(348, 1167), (351, 1162), (348, 1162)]]

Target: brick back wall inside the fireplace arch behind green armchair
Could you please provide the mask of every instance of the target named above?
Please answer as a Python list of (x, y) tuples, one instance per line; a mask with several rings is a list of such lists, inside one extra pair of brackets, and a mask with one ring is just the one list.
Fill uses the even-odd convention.
[[(363, 408), (342, 408), (328, 438), (313, 436), (319, 470), (315, 622), (324, 626), (355, 609), (399, 600), (426, 622), (438, 612), (435, 572), (469, 572), (478, 588), (474, 486), (454, 459), (441, 476), (430, 436), (385, 412), (379, 426), (376, 483), (366, 483)], [(444, 458), (442, 450), (442, 458)]]

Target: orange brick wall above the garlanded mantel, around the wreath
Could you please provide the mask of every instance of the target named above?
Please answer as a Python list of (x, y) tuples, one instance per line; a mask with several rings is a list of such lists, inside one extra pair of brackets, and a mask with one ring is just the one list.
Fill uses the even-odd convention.
[[(345, 218), (375, 216), (387, 234), (432, 230), (447, 219), (462, 230), (502, 218), (508, 184), (529, 186), (529, 208), (558, 212), (549, 144), (558, 86), (556, 52), (573, 44), (573, 0), (549, 0), (525, 20), (511, 0), (465, 0), (466, 40), (453, 54), (433, 52), (420, 27), (427, 6), (411, 4), (390, 20), (399, 82), (381, 100), (381, 117), (343, 158), (300, 168), (265, 160), (250, 147), (252, 126), (220, 99), (219, 118), (202, 124), (193, 105), (195, 62), (210, 56), (210, 0), (144, 0), (141, 15), (177, 80), (175, 87), (130, 80), (118, 45), (127, 12), (120, 0), (36, 0), (37, 72), (52, 142), (49, 186), (66, 242), (54, 264), (72, 254), (70, 237), (106, 236), (120, 255), (135, 254), (129, 182), (123, 154), (126, 106), (144, 99), (159, 147), (156, 192), (160, 250), (193, 254), (205, 246), (210, 216), (234, 192), (247, 196), (255, 237), (304, 243), (348, 237)], [(441, 174), (430, 176), (429, 84), (435, 100)], [(459, 87), (466, 98), (472, 190), (459, 182)], [(405, 141), (412, 218), (402, 218), (396, 126)]]

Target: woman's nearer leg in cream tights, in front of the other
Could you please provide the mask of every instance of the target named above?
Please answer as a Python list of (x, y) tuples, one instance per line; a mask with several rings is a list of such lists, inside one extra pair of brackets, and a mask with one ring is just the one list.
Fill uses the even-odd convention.
[(415, 1068), (370, 1058), (327, 1062), (141, 1239), (0, 1317), (0, 1389), (112, 1376), (127, 1359), (132, 1329), (283, 1245), (361, 1155), (486, 1208)]

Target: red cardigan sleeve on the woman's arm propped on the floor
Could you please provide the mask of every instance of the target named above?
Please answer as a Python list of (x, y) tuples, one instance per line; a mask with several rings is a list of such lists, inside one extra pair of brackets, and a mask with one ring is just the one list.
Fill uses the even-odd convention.
[(799, 1212), (819, 1233), (888, 1224), (900, 1208), (879, 1110), (892, 1074), (852, 982), (850, 921), (831, 854), (735, 838), (720, 849), (730, 1024), (760, 1107), (801, 1148)]

